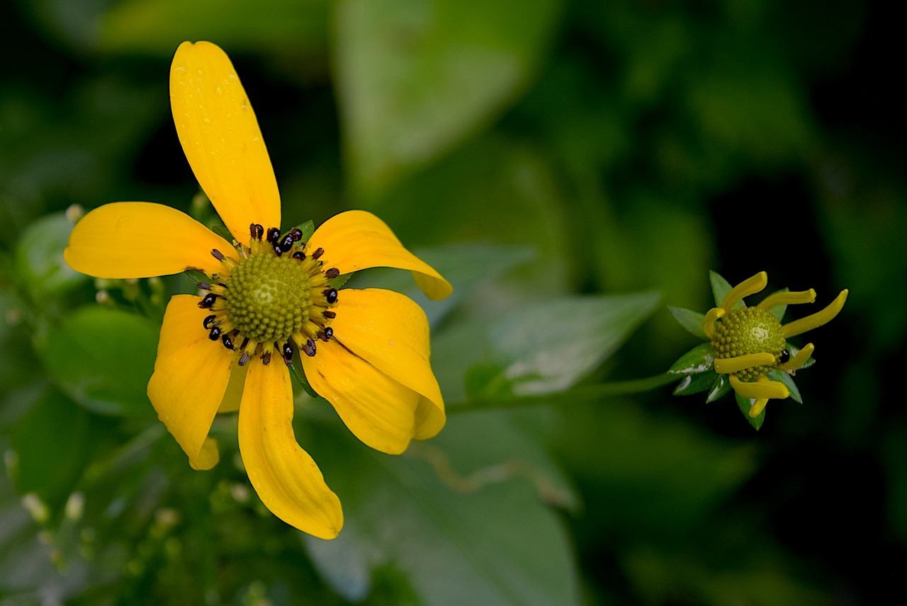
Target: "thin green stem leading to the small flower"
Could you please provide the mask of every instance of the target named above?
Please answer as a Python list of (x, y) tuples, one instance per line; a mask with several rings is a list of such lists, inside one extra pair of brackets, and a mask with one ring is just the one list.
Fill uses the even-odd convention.
[(619, 380), (610, 383), (597, 383), (595, 385), (581, 385), (571, 390), (529, 396), (501, 396), (487, 399), (467, 399), (447, 405), (447, 414), (459, 412), (473, 412), (474, 410), (492, 409), (519, 409), (527, 406), (560, 406), (562, 404), (578, 404), (593, 399), (610, 396), (625, 396), (631, 393), (643, 393), (655, 390), (668, 383), (678, 380), (677, 375), (657, 374), (654, 377), (634, 380)]

